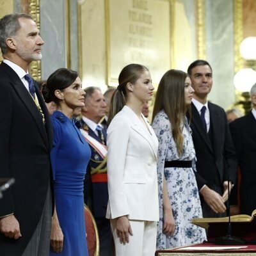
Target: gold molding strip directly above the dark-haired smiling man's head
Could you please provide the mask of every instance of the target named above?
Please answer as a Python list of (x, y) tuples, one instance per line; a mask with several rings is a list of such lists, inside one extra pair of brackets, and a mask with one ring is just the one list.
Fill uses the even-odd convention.
[(205, 47), (205, 0), (196, 0), (198, 59), (206, 60)]

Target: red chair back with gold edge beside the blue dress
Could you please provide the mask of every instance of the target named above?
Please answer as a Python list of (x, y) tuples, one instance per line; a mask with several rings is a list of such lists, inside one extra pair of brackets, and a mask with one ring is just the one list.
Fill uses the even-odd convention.
[(86, 204), (84, 204), (84, 220), (89, 256), (99, 256), (99, 233), (92, 212)]

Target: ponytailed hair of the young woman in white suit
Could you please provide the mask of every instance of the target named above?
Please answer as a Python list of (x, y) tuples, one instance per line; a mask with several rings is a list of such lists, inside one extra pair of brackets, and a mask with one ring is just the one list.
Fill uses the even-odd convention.
[(134, 84), (140, 78), (143, 72), (148, 71), (143, 65), (140, 64), (129, 64), (122, 69), (118, 77), (117, 90), (112, 96), (111, 106), (109, 109), (108, 124), (110, 124), (113, 117), (124, 107), (125, 101), (127, 100), (127, 83)]

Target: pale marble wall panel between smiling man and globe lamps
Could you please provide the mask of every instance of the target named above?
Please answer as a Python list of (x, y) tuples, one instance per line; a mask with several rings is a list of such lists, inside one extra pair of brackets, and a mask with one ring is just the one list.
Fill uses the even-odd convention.
[(213, 70), (209, 100), (228, 108), (235, 100), (233, 1), (205, 0), (206, 56)]

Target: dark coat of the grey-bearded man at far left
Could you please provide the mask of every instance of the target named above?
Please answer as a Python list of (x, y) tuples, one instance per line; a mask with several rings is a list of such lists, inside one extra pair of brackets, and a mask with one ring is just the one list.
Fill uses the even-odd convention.
[(13, 177), (15, 184), (0, 200), (0, 216), (14, 212), (22, 234), (17, 241), (0, 234), (2, 256), (22, 254), (42, 215), (49, 186), (52, 127), (37, 86), (36, 95), (45, 115), (45, 125), (19, 76), (1, 63), (0, 177)]

